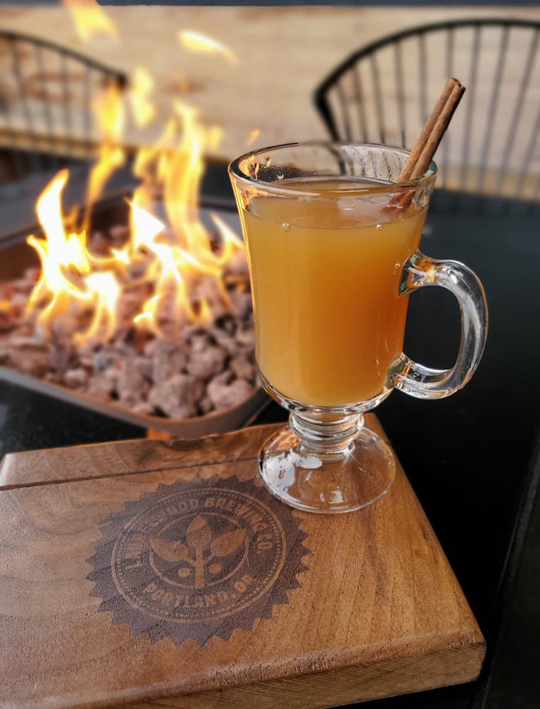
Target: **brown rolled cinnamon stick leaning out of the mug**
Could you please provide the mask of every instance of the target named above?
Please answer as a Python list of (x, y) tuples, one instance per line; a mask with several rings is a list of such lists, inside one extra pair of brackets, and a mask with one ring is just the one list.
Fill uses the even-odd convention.
[[(418, 140), (415, 145), (413, 145), (407, 161), (401, 168), (398, 183), (417, 179), (418, 177), (422, 177), (424, 172), (426, 172), (437, 151), (437, 147), (439, 147), (441, 138), (446, 128), (448, 128), (452, 116), (454, 116), (454, 111), (459, 101), (461, 101), (461, 96), (463, 96), (464, 91), (465, 86), (463, 86), (458, 79), (454, 77), (448, 79), (439, 96), (437, 104), (434, 105), (432, 112), (429, 114), (429, 118), (427, 118), (427, 121), (424, 123), (424, 128), (422, 128)], [(390, 205), (397, 206), (399, 204), (402, 207), (409, 206), (413, 195), (413, 192), (395, 195), (393, 199), (390, 200)]]

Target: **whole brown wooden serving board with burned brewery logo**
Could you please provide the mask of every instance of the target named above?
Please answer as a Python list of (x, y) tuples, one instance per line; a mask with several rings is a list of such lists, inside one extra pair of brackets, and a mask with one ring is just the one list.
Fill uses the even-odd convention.
[(403, 470), (371, 508), (291, 510), (257, 479), (275, 428), (6, 456), (1, 707), (306, 709), (478, 676)]

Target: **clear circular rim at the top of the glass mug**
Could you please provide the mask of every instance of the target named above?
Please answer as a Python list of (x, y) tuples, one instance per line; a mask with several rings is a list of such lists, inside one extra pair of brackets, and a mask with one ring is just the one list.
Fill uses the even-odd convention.
[[(275, 192), (276, 194), (290, 194), (291, 196), (298, 196), (298, 194), (306, 195), (310, 194), (311, 196), (322, 196), (324, 198), (325, 196), (325, 191), (317, 191), (317, 189), (313, 189), (313, 191), (310, 191), (309, 193), (306, 192), (305, 190), (299, 192), (298, 190), (294, 189), (292, 186), (289, 187), (287, 184), (283, 184), (283, 182), (266, 182), (265, 180), (258, 179), (257, 177), (252, 177), (251, 175), (244, 174), (242, 170), (240, 169), (240, 163), (243, 160), (249, 160), (250, 158), (256, 157), (257, 155), (261, 155), (263, 153), (267, 153), (269, 151), (276, 152), (277, 150), (282, 150), (283, 148), (288, 148), (288, 147), (326, 147), (326, 148), (334, 148), (339, 149), (342, 147), (376, 147), (376, 148), (386, 148), (387, 150), (393, 150), (394, 152), (401, 152), (403, 155), (410, 155), (410, 150), (406, 150), (404, 147), (396, 147), (394, 145), (386, 145), (383, 143), (354, 143), (354, 142), (345, 142), (345, 141), (335, 141), (335, 140), (305, 140), (302, 142), (298, 143), (282, 143), (281, 145), (269, 145), (266, 147), (261, 147), (257, 148), (257, 150), (250, 150), (249, 152), (245, 152), (244, 155), (240, 155), (240, 157), (237, 157), (235, 160), (232, 160), (228, 167), (227, 167), (227, 172), (235, 177), (239, 182), (243, 182), (246, 185), (252, 185), (252, 186), (261, 186), (264, 187), (265, 191), (269, 192)], [(350, 176), (353, 177), (354, 175)], [(400, 192), (400, 191), (405, 191), (405, 190), (410, 190), (410, 189), (416, 189), (418, 186), (423, 184), (424, 182), (429, 182), (430, 180), (435, 179), (437, 177), (437, 164), (435, 164), (434, 160), (432, 160), (429, 164), (428, 169), (424, 174), (422, 174), (420, 177), (416, 177), (415, 179), (409, 179), (406, 182), (387, 182), (381, 185), (369, 185), (369, 186), (354, 186), (354, 188), (349, 187), (343, 188), (343, 189), (336, 189), (333, 190), (333, 194), (351, 194), (351, 192), (354, 191), (355, 194), (362, 194), (362, 195), (369, 195), (369, 194), (385, 194), (388, 192)], [(308, 178), (309, 179), (309, 178)]]

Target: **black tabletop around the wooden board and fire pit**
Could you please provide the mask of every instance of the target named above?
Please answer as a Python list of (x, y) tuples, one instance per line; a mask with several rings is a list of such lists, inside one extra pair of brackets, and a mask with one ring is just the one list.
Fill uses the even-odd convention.
[[(223, 174), (207, 189), (229, 194)], [(377, 410), (486, 640), (480, 678), (378, 700), (378, 709), (540, 706), (540, 210), (439, 193), (422, 251), (471, 267), (485, 286), (488, 344), (469, 384), (419, 401), (393, 393)], [(442, 289), (410, 300), (405, 352), (448, 367), (459, 311)], [(271, 403), (255, 423), (285, 420)], [(141, 437), (120, 420), (0, 381), (0, 454)], [(367, 706), (363, 704), (362, 706)]]

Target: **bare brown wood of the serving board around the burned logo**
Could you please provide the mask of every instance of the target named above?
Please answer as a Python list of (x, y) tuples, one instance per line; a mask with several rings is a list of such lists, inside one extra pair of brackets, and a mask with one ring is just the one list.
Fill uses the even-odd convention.
[[(92, 595), (88, 577), (111, 519), (160, 485), (220, 479), (232, 489), (260, 487), (257, 452), (275, 428), (6, 456), (1, 707), (305, 709), (478, 675), (483, 636), (399, 466), (388, 494), (365, 510), (288, 511), (307, 535), (300, 585), (289, 586), (287, 601), (269, 606), (249, 630), (238, 627), (229, 639), (216, 633), (203, 644), (192, 637), (152, 642), (100, 610), (103, 599)], [(279, 504), (257, 491), (264, 504), (265, 495), (269, 506)]]

